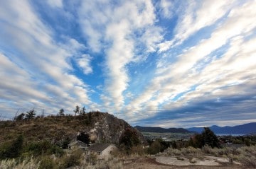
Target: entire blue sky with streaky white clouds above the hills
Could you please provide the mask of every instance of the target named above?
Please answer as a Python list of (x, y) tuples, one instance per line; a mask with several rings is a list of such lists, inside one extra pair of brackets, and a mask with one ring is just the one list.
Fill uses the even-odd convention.
[(0, 0), (0, 116), (256, 122), (255, 0)]

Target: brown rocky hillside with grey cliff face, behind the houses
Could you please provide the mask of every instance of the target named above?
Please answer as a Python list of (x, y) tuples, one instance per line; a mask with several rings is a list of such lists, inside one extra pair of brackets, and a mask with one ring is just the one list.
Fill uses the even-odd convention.
[[(89, 112), (78, 116), (36, 117), (32, 120), (0, 122), (0, 142), (16, 139), (18, 134), (23, 134), (28, 141), (48, 139), (57, 143), (67, 137), (75, 139), (78, 132), (85, 132), (90, 134), (92, 141), (117, 144), (127, 128), (134, 129), (124, 120), (103, 112)], [(144, 141), (142, 134), (138, 131), (137, 133), (140, 140)]]

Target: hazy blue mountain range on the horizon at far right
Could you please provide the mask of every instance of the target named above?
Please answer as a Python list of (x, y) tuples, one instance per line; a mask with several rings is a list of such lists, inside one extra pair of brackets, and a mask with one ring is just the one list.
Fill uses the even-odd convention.
[[(242, 124), (234, 127), (218, 127), (212, 126), (210, 129), (215, 134), (256, 134), (256, 122), (251, 122), (247, 124)], [(203, 127), (192, 127), (188, 128), (188, 131), (201, 133)]]

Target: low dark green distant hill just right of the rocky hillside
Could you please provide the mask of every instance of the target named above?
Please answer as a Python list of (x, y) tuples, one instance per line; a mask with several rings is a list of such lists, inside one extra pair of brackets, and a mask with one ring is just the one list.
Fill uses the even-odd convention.
[(161, 128), (161, 127), (142, 127), (135, 126), (135, 129), (138, 129), (139, 132), (155, 132), (155, 133), (190, 133), (188, 130), (183, 128)]

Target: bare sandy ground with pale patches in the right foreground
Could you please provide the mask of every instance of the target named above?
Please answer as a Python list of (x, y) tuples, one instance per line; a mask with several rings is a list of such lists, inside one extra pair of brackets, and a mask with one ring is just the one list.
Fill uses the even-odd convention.
[[(124, 168), (132, 168), (132, 169), (203, 169), (203, 168), (227, 168), (227, 169), (238, 169), (242, 168), (242, 165), (228, 163), (228, 159), (225, 158), (217, 158), (206, 156), (206, 159), (200, 160), (198, 158), (193, 159), (196, 163), (190, 163), (188, 158), (184, 158), (183, 160), (178, 160), (176, 157), (164, 157), (159, 156), (156, 158), (134, 158), (127, 163), (124, 163)], [(181, 158), (179, 158), (181, 159)], [(218, 162), (217, 162), (218, 161)], [(189, 164), (188, 164), (189, 163)]]

